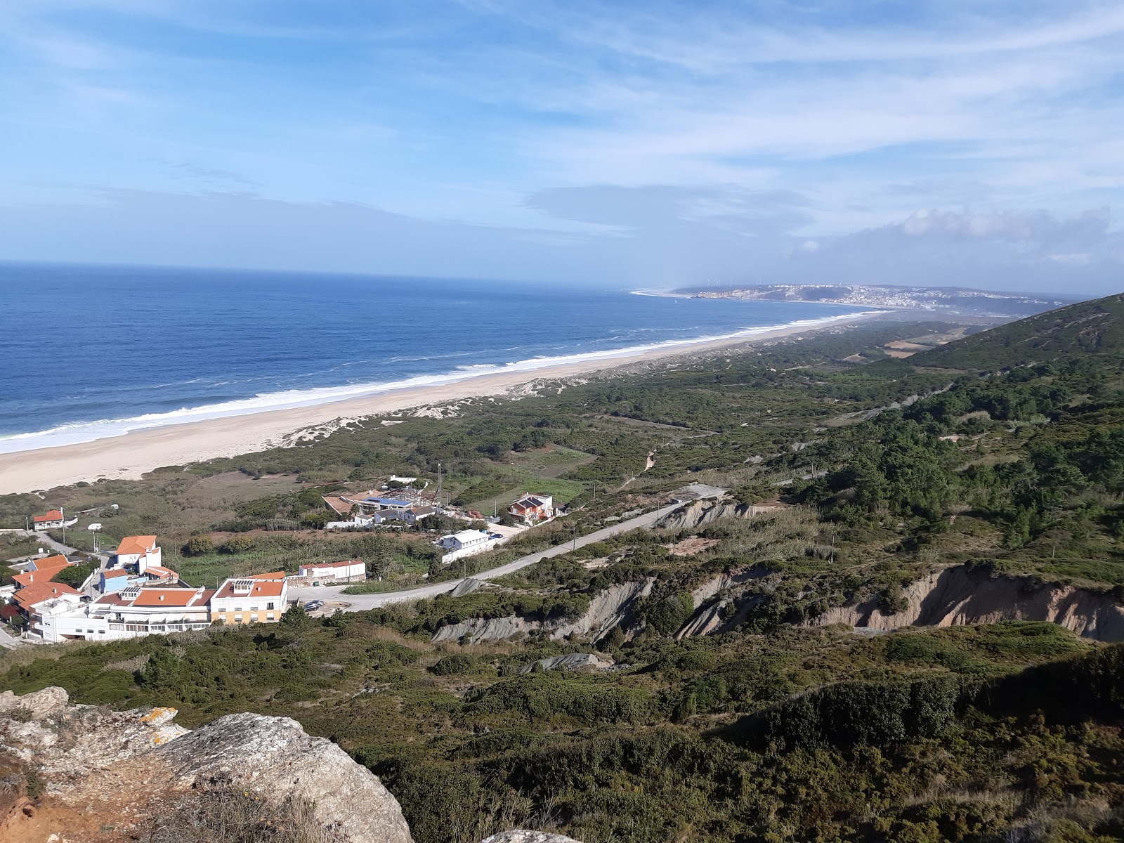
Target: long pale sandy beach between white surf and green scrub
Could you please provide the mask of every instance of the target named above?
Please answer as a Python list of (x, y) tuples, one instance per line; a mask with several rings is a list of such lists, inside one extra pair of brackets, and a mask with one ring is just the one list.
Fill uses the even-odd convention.
[(533, 381), (588, 375), (637, 363), (812, 334), (828, 327), (837, 329), (876, 316), (878, 314), (855, 314), (845, 320), (825, 320), (822, 325), (788, 326), (753, 336), (672, 345), (543, 366), (533, 371), (481, 374), (451, 383), (399, 389), (330, 404), (166, 425), (93, 442), (0, 454), (0, 495), (51, 489), (83, 480), (94, 482), (99, 478), (136, 479), (163, 465), (183, 465), (293, 444), (302, 435), (308, 437), (324, 434), (347, 420), (366, 416), (400, 413), (468, 398), (498, 397), (511, 393)]

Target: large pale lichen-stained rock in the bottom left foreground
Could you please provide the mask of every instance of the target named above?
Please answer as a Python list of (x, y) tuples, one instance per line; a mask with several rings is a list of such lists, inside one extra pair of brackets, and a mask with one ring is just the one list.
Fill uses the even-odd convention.
[(410, 843), (378, 777), (296, 720), (235, 714), (188, 732), (174, 716), (173, 708), (70, 706), (61, 688), (0, 695), (0, 752), (34, 772), (46, 801), (25, 800), (4, 818), (0, 841), (35, 839), (53, 827), (42, 825), (44, 815), (71, 843), (133, 840), (221, 789), (262, 806), (301, 806), (318, 840)]

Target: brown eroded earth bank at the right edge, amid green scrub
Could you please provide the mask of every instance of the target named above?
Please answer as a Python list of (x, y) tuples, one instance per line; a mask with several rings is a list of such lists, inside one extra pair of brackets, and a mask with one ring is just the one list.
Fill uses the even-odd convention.
[(1043, 584), (1030, 577), (992, 577), (964, 565), (934, 571), (903, 589), (906, 608), (892, 615), (878, 599), (839, 606), (808, 622), (826, 626), (898, 629), (904, 626), (967, 626), (1000, 620), (1046, 620), (1096, 641), (1124, 641), (1124, 606), (1112, 595), (1072, 586)]

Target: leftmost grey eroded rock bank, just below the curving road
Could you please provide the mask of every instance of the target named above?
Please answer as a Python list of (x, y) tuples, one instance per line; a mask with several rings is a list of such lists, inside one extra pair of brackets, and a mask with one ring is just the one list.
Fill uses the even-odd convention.
[(633, 604), (652, 593), (653, 580), (623, 582), (610, 586), (590, 600), (589, 608), (577, 620), (528, 620), (518, 615), (497, 618), (468, 618), (459, 624), (441, 627), (430, 636), (434, 643), (462, 642), (480, 644), (487, 641), (506, 641), (545, 632), (553, 641), (577, 633), (596, 641), (614, 626), (627, 622)]

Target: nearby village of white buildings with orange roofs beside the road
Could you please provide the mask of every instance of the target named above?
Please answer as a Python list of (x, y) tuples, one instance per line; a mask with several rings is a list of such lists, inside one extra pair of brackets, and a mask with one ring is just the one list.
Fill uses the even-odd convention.
[[(427, 483), (417, 478), (391, 475), (378, 491), (326, 495), (324, 504), (337, 520), (327, 522), (324, 528), (392, 529), (438, 515), (464, 522), (464, 529), (433, 540), (442, 551), (441, 562), (447, 565), (492, 550), (559, 514), (551, 496), (524, 493), (502, 515), (497, 511), (486, 517), (442, 502), (439, 492), (426, 488)], [(292, 588), (344, 586), (368, 579), (363, 561), (345, 559), (301, 564), (296, 572), (228, 577), (215, 588), (207, 588), (185, 582), (162, 563), (155, 535), (125, 536), (111, 552), (89, 553), (67, 546), (65, 533), (63, 542), (48, 534), (73, 527), (78, 520), (67, 518), (61, 509), (52, 509), (31, 516), (27, 529), (4, 531), (33, 536), (43, 547), (8, 562), (18, 573), (11, 584), (0, 587), (0, 619), (15, 633), (3, 634), (3, 645), (117, 641), (216, 624), (271, 624), (287, 610), (321, 608), (320, 600), (290, 599)], [(90, 526), (100, 528), (100, 524)], [(90, 572), (81, 580), (73, 575), (85, 570)]]

